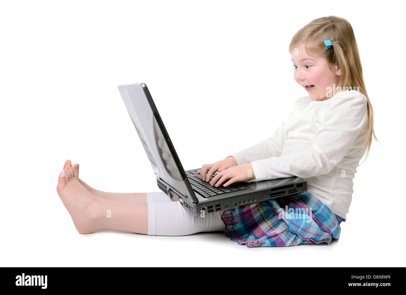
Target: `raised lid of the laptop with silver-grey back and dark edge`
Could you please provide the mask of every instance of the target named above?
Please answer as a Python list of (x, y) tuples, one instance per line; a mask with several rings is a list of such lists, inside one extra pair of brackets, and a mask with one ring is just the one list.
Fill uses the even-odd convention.
[(147, 85), (125, 84), (118, 88), (156, 177), (198, 203)]

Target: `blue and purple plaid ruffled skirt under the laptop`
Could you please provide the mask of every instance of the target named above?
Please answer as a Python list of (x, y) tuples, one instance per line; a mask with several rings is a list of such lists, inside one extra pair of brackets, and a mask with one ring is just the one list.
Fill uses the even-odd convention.
[(346, 221), (311, 192), (226, 210), (222, 220), (225, 235), (250, 248), (330, 244)]

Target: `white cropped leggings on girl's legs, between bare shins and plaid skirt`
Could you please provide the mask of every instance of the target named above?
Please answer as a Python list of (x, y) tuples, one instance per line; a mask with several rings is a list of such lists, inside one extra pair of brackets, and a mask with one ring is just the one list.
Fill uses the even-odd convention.
[(148, 235), (191, 235), (203, 231), (223, 231), (222, 211), (192, 216), (179, 201), (164, 192), (147, 192)]

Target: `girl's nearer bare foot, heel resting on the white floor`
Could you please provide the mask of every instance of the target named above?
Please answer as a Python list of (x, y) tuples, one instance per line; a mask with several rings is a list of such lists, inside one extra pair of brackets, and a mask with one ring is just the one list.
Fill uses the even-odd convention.
[(79, 233), (97, 230), (96, 209), (99, 197), (93, 195), (78, 181), (78, 166), (69, 165), (59, 174), (56, 191), (68, 210)]

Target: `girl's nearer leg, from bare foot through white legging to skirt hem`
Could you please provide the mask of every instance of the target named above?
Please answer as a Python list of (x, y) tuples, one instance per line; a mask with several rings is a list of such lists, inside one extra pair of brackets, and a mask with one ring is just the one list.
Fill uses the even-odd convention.
[[(193, 217), (179, 202), (163, 192), (149, 193), (148, 203), (129, 203), (103, 199), (78, 181), (78, 167), (68, 166), (58, 178), (56, 188), (79, 233), (116, 229), (149, 235), (190, 235), (205, 231), (224, 231), (222, 212)], [(168, 200), (168, 201), (166, 201)]]

